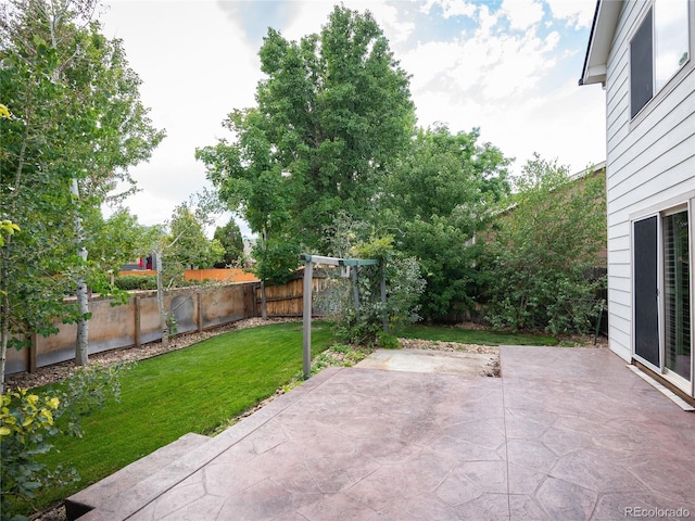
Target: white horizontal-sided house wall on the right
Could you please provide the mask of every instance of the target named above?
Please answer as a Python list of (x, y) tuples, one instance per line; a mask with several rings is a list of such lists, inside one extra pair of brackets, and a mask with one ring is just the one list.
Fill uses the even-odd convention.
[(631, 359), (633, 334), (631, 223), (690, 201), (690, 229), (695, 229), (695, 2), (690, 3), (690, 63), (633, 120), (630, 119), (630, 39), (652, 2), (623, 2), (608, 58), (609, 339), (610, 348), (626, 360)]

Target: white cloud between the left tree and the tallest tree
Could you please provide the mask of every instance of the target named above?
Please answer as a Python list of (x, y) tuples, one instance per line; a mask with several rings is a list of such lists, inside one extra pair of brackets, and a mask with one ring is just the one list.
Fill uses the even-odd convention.
[(195, 148), (215, 143), (232, 109), (254, 103), (256, 53), (214, 2), (116, 2), (101, 20), (105, 36), (124, 40), (152, 124), (166, 129), (149, 163), (131, 168), (142, 192), (127, 201), (141, 224), (163, 223), (207, 185)]

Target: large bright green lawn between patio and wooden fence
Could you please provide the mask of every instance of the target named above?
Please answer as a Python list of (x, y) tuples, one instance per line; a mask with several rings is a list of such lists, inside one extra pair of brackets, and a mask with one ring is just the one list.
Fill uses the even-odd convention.
[[(333, 342), (315, 322), (312, 354)], [(68, 490), (39, 498), (48, 506), (167, 445), (188, 432), (208, 434), (290, 382), (302, 368), (302, 325), (232, 331), (140, 361), (123, 373), (121, 403), (83, 421), (83, 439), (61, 439), (47, 457), (79, 472)]]

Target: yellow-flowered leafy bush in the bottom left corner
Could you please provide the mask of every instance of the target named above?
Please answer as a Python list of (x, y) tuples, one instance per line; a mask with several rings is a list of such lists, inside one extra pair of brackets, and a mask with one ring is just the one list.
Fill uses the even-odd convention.
[(61, 435), (81, 437), (80, 419), (101, 408), (109, 397), (118, 399), (118, 373), (123, 367), (92, 365), (76, 370), (58, 389), (45, 393), (10, 390), (0, 396), (2, 521), (27, 519), (21, 512), (30, 509), (41, 488), (64, 486), (79, 480), (75, 469), (48, 468), (40, 462), (40, 456), (53, 448), (51, 439)]

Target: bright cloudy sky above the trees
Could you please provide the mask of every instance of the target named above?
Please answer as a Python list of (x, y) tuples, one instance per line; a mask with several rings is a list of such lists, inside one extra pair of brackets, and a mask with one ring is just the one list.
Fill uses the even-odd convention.
[[(148, 163), (130, 169), (140, 192), (125, 206), (140, 224), (165, 223), (176, 205), (211, 186), (195, 149), (228, 138), (226, 115), (255, 104), (268, 27), (299, 41), (320, 31), (336, 3), (111, 0), (99, 17), (102, 31), (124, 41), (150, 118), (167, 134)], [(595, 0), (342, 3), (369, 10), (389, 39), (410, 75), (418, 126), (479, 128), (481, 143), (515, 160), (513, 174), (534, 152), (570, 173), (605, 160), (605, 93), (578, 86)]]

